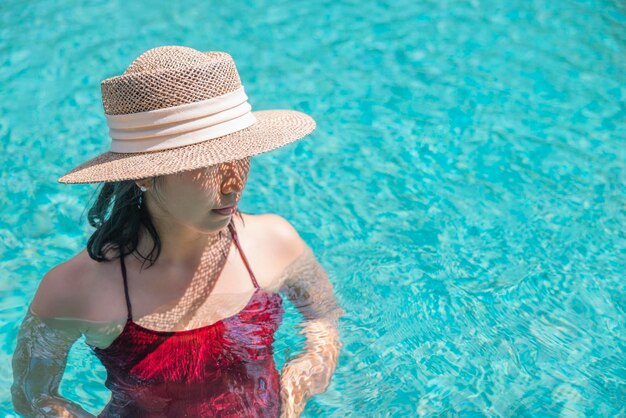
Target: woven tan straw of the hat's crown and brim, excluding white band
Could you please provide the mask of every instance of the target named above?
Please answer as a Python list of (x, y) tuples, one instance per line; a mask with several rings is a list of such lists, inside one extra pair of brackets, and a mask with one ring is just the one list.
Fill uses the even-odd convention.
[[(124, 74), (101, 83), (107, 115), (145, 112), (198, 102), (241, 86), (230, 54), (161, 46), (135, 59)], [(253, 111), (256, 123), (204, 142), (138, 153), (105, 152), (59, 178), (61, 183), (136, 180), (242, 159), (290, 144), (313, 132), (315, 120), (290, 109)]]

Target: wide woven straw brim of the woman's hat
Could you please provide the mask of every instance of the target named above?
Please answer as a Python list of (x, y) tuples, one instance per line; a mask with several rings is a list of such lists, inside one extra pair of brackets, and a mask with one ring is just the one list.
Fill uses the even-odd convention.
[(283, 147), (315, 130), (315, 120), (296, 110), (252, 112), (257, 121), (241, 131), (178, 148), (141, 152), (105, 152), (73, 168), (60, 183), (137, 180), (238, 160)]

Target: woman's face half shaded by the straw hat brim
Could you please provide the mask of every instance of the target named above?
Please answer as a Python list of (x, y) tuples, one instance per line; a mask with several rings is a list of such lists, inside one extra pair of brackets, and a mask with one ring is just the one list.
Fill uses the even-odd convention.
[[(212, 210), (239, 202), (249, 171), (250, 157), (246, 157), (163, 176), (156, 185), (156, 193), (149, 197), (148, 207), (153, 216), (167, 217), (201, 232), (220, 230), (233, 215), (221, 215)], [(151, 183), (141, 184), (149, 192), (155, 192), (150, 190)]]

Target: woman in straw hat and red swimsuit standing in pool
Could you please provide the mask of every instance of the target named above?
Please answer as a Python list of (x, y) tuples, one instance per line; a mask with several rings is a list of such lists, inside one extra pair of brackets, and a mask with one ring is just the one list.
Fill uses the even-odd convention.
[[(103, 417), (299, 416), (328, 387), (341, 343), (323, 267), (291, 224), (237, 203), (250, 158), (315, 128), (251, 112), (230, 55), (166, 46), (102, 82), (111, 149), (61, 177), (102, 182), (85, 250), (42, 279), (13, 357), (24, 416), (92, 416), (62, 398), (71, 345), (107, 369)], [(306, 349), (273, 360), (280, 293)]]

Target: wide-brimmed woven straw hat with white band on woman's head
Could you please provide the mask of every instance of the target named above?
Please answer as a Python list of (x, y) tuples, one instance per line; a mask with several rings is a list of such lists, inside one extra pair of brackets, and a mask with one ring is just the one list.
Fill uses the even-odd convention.
[(100, 84), (109, 151), (61, 183), (135, 180), (245, 158), (303, 138), (309, 115), (251, 111), (232, 57), (184, 46), (150, 49)]

